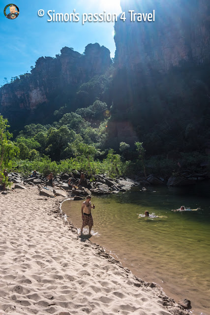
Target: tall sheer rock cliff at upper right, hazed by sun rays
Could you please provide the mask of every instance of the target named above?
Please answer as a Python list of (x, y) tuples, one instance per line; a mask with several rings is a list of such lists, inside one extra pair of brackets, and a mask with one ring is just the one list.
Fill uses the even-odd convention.
[(129, 69), (167, 71), (182, 61), (210, 61), (209, 0), (120, 0), (122, 11), (150, 13), (155, 22), (115, 24), (115, 60)]

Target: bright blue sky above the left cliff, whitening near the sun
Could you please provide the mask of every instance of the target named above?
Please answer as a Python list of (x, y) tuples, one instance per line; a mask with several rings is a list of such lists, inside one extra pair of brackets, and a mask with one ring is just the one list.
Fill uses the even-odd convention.
[[(12, 2), (0, 0), (0, 85), (4, 77), (30, 72), (39, 57), (55, 57), (62, 47), (72, 47), (83, 53), (89, 43), (104, 45), (115, 56), (114, 23), (86, 22), (82, 25), (83, 13), (120, 14), (120, 0), (15, 0), (20, 14), (10, 20), (4, 16), (4, 7)], [(44, 4), (43, 4), (44, 3)], [(38, 10), (43, 9), (43, 17)], [(79, 22), (48, 22), (48, 10), (55, 13), (80, 13)], [(9, 13), (7, 8), (6, 13)], [(53, 14), (53, 12), (51, 13)]]

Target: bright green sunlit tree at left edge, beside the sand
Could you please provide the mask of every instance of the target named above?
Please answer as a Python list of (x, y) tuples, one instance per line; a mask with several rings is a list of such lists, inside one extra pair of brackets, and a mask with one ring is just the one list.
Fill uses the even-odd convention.
[(3, 171), (11, 168), (12, 160), (19, 152), (15, 144), (9, 140), (12, 134), (7, 130), (10, 127), (7, 123), (7, 119), (0, 115), (0, 183), (3, 189), (8, 186), (8, 177), (4, 176)]

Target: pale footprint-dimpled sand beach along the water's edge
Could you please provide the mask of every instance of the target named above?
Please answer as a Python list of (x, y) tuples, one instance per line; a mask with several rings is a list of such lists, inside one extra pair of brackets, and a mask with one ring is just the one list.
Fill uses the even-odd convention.
[(0, 315), (188, 314), (80, 238), (60, 201), (37, 187), (0, 194)]

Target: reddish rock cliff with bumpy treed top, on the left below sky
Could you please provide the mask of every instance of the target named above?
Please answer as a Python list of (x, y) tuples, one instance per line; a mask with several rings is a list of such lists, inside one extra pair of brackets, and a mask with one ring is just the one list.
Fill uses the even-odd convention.
[(57, 102), (59, 108), (78, 86), (103, 74), (112, 63), (110, 51), (97, 43), (89, 44), (84, 55), (68, 47), (60, 53), (56, 58), (39, 58), (31, 73), (0, 88), (0, 113), (12, 125), (18, 116), (32, 115), (42, 104)]

